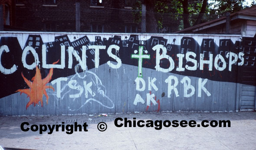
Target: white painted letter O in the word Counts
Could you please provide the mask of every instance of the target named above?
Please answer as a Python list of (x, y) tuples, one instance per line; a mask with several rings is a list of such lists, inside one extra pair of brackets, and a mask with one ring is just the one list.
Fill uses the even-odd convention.
[[(33, 64), (31, 64), (31, 65), (28, 65), (26, 63), (26, 55), (28, 54), (29, 51), (32, 53), (32, 55), (35, 58)], [(33, 70), (33, 68), (36, 68), (36, 65), (39, 64), (39, 59), (38, 59), (38, 55), (36, 53), (36, 50), (31, 46), (26, 46), (26, 48), (23, 50), (21, 61), (23, 63), (23, 66), (27, 69)]]

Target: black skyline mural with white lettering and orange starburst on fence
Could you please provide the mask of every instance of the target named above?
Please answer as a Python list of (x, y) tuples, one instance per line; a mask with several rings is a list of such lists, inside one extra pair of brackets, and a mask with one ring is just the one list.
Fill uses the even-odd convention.
[[(139, 40), (138, 35), (130, 35), (125, 39), (121, 39), (121, 36), (108, 39), (95, 36), (95, 41), (83, 36), (72, 40), (63, 35), (56, 36), (52, 42), (43, 42), (41, 36), (29, 35), (25, 46), (21, 47), (16, 37), (1, 37), (0, 98), (20, 92), (20, 95), (29, 98), (24, 106), (27, 109), (36, 104), (43, 107), (44, 96), (48, 104), (49, 93), (56, 99), (63, 99), (72, 90), (73, 94), (69, 94), (68, 98), (75, 101), (85, 95), (85, 102), (79, 108), (70, 110), (78, 110), (93, 101), (111, 109), (115, 104), (102, 84), (106, 78), (99, 78), (90, 71), (103, 64), (108, 65), (109, 72), (110, 68), (122, 69), (122, 65), (138, 66), (137, 77), (134, 81), (128, 81), (128, 84), (135, 84), (134, 88), (138, 92), (146, 92), (145, 98), (139, 93), (132, 98), (134, 105), (146, 104), (146, 110), (154, 104), (158, 105), (154, 111), (159, 111), (160, 100), (154, 95), (154, 91), (158, 91), (155, 83), (158, 78), (144, 75), (143, 68), (184, 75), (184, 78), (175, 75), (163, 78), (162, 84), (166, 84), (167, 89), (162, 97), (166, 93), (168, 98), (190, 98), (193, 95), (210, 97), (211, 93), (206, 87), (208, 80), (256, 86), (255, 78), (245, 81), (240, 74), (241, 70), (248, 67), (255, 69), (254, 38), (243, 37), (235, 43), (231, 39), (220, 39), (219, 46), (214, 39), (203, 39), (198, 43), (186, 36), (181, 38), (181, 45), (175, 44), (175, 38), (168, 41), (161, 36), (151, 36), (147, 40)], [(196, 85), (192, 85), (190, 77), (199, 78)], [(111, 80), (111, 77), (107, 80)], [(63, 86), (62, 82), (66, 84)], [(179, 94), (178, 84), (184, 87), (183, 95)], [(56, 88), (52, 85), (56, 85)], [(66, 88), (68, 91), (63, 93)], [(95, 95), (98, 95), (97, 98), (94, 98)]]

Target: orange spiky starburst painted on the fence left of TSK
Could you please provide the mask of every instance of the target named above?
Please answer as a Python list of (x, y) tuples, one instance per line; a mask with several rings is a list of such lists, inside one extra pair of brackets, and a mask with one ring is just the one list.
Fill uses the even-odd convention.
[[(58, 63), (53, 62), (53, 64)], [(34, 104), (34, 107), (36, 104), (39, 104), (39, 101), (41, 102), (41, 106), (43, 107), (43, 94), (46, 96), (46, 103), (48, 104), (48, 95), (46, 93), (46, 88), (51, 88), (54, 91), (54, 88), (51, 85), (46, 85), (49, 83), (49, 81), (52, 79), (53, 76), (53, 68), (50, 68), (49, 74), (46, 76), (46, 78), (42, 79), (40, 69), (36, 66), (36, 75), (31, 79), (32, 82), (30, 82), (28, 79), (26, 79), (21, 73), (21, 76), (23, 77), (24, 81), (30, 88), (26, 89), (19, 89), (16, 92), (20, 92), (20, 95), (22, 93), (28, 95), (27, 97), (30, 98), (30, 101), (26, 104), (26, 109), (31, 105)]]

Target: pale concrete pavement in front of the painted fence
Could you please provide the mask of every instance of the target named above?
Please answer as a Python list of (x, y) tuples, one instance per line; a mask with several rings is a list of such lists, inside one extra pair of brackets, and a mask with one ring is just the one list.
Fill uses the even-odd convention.
[[(117, 117), (133, 120), (230, 120), (231, 127), (115, 127)], [(22, 122), (32, 124), (88, 124), (87, 132), (39, 134), (24, 132)], [(104, 132), (99, 122), (108, 127)], [(120, 123), (120, 122), (119, 122)], [(28, 127), (30, 127), (30, 125)], [(48, 130), (49, 131), (49, 130)], [(142, 113), (72, 116), (0, 116), (0, 145), (38, 150), (256, 150), (256, 112)]]

